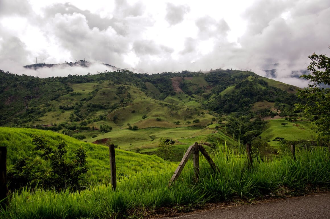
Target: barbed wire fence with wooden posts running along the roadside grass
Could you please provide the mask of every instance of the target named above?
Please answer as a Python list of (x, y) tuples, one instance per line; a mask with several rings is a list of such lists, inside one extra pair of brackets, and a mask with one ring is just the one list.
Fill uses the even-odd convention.
[[(104, 154), (104, 155), (88, 155), (87, 157), (110, 157), (110, 168), (94, 168), (94, 169), (88, 169), (89, 171), (104, 171), (104, 170), (109, 170), (111, 173), (111, 182), (98, 182), (98, 183), (90, 183), (88, 185), (83, 185), (82, 187), (89, 188), (91, 186), (99, 186), (99, 185), (104, 185), (108, 186), (111, 185), (112, 189), (115, 191), (116, 190), (116, 183), (120, 182), (125, 182), (125, 181), (131, 181), (131, 180), (139, 180), (143, 178), (150, 178), (150, 177), (155, 177), (155, 176), (160, 176), (160, 175), (169, 175), (173, 174), (169, 186), (179, 177), (181, 172), (186, 172), (190, 170), (194, 170), (195, 174), (195, 179), (197, 180), (199, 177), (199, 171), (202, 169), (213, 169), (215, 172), (218, 171), (216, 165), (214, 164), (214, 161), (212, 159), (231, 159), (231, 158), (245, 158), (248, 160), (248, 168), (252, 168), (253, 160), (252, 160), (252, 150), (251, 150), (251, 144), (246, 145), (246, 153), (241, 153), (238, 154), (237, 156), (217, 156), (216, 154), (213, 154), (212, 159), (211, 157), (207, 154), (206, 150), (202, 147), (202, 145), (199, 145), (197, 142), (195, 142), (194, 145), (191, 145), (186, 154), (183, 156), (182, 161), (180, 162), (177, 170), (173, 172), (163, 172), (163, 173), (158, 173), (154, 175), (149, 175), (149, 176), (143, 176), (143, 177), (120, 177), (116, 175), (116, 170), (120, 168), (130, 168), (130, 167), (136, 167), (136, 166), (146, 166), (146, 165), (157, 165), (157, 164), (166, 164), (166, 163), (172, 163), (172, 161), (161, 161), (161, 162), (151, 162), (151, 163), (143, 163), (143, 164), (134, 164), (134, 165), (124, 165), (124, 166), (118, 166), (116, 167), (116, 162), (115, 162), (115, 156), (116, 155), (134, 155), (134, 154), (141, 154), (140, 152), (126, 152), (126, 153), (114, 153), (115, 152), (115, 145), (110, 145), (109, 146), (109, 154)], [(230, 150), (230, 148), (226, 147), (227, 150)], [(113, 150), (113, 153), (111, 151)], [(188, 152), (190, 151), (190, 152)], [(187, 155), (189, 153), (189, 155)], [(204, 156), (199, 156), (199, 153), (203, 154)], [(186, 170), (183, 170), (183, 167), (187, 160), (189, 159), (189, 156), (193, 154), (193, 168), (189, 168)], [(282, 155), (291, 155), (292, 158), (295, 160), (295, 146), (291, 145), (290, 152), (285, 152), (282, 153)], [(65, 158), (75, 158), (73, 156), (67, 156)], [(267, 155), (264, 156), (264, 158), (274, 158), (274, 155)], [(30, 160), (38, 160), (41, 158), (30, 158)], [(111, 166), (112, 160), (113, 166)], [(200, 160), (206, 160), (211, 167), (209, 168), (200, 168), (199, 167), (199, 161)], [(211, 161), (210, 161), (211, 160)], [(0, 200), (3, 198), (7, 197), (7, 147), (0, 147)], [(41, 172), (41, 171), (40, 171)], [(20, 176), (21, 177), (21, 176)], [(15, 176), (11, 177), (11, 180), (15, 179)], [(66, 187), (59, 187), (56, 188), (57, 190), (61, 189), (67, 189)], [(42, 190), (42, 189), (40, 189)], [(37, 191), (37, 190), (35, 190)]]

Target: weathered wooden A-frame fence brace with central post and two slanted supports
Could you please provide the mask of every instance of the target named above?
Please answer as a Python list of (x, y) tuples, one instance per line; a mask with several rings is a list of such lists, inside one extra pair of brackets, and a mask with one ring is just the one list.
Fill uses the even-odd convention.
[(177, 167), (177, 169), (174, 171), (174, 174), (168, 184), (168, 186), (171, 186), (174, 181), (176, 181), (181, 174), (183, 167), (187, 163), (189, 156), (193, 153), (193, 162), (194, 162), (194, 171), (195, 171), (195, 178), (198, 180), (198, 175), (199, 175), (199, 152), (204, 155), (210, 166), (214, 171), (220, 172), (219, 168), (215, 165), (213, 160), (211, 159), (210, 155), (206, 152), (203, 146), (199, 145), (197, 142), (195, 142), (193, 145), (191, 145), (186, 153), (183, 155), (183, 158)]

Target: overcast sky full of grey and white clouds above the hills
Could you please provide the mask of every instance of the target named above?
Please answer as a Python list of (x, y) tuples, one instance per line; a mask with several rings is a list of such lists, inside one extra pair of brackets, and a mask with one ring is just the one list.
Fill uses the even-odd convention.
[(221, 67), (303, 87), (292, 76), (312, 53), (329, 55), (329, 21), (329, 0), (0, 0), (0, 69), (40, 77), (106, 70), (21, 67), (36, 58), (149, 74)]

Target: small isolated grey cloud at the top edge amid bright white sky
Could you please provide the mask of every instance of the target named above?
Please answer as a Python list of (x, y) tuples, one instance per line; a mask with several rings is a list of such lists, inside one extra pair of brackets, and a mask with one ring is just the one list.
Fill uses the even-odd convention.
[(167, 3), (166, 11), (165, 20), (169, 24), (175, 25), (183, 21), (183, 16), (190, 11), (190, 8), (187, 5), (176, 6), (172, 3)]

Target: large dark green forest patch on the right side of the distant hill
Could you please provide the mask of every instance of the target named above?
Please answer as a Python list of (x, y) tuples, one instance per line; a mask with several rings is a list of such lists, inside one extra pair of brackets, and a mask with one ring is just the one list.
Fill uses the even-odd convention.
[[(238, 112), (241, 115), (248, 115), (251, 113), (252, 104), (259, 101), (291, 106), (293, 102), (297, 101), (294, 94), (288, 94), (280, 88), (269, 86), (266, 81), (259, 79), (257, 76), (251, 77), (248, 74), (237, 76), (231, 74), (231, 72), (219, 74), (215, 71), (207, 74), (205, 80), (212, 81), (214, 84), (210, 94), (214, 94), (214, 100), (208, 102), (206, 106), (221, 114)], [(221, 95), (221, 92), (230, 86), (234, 86), (234, 91)], [(292, 110), (292, 108), (286, 110)], [(282, 112), (282, 115), (285, 116), (286, 114)]]

